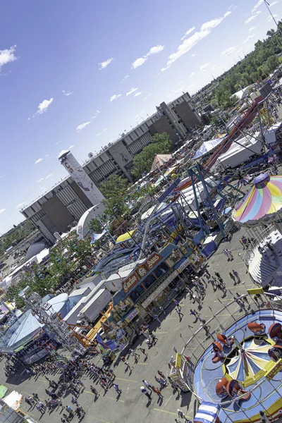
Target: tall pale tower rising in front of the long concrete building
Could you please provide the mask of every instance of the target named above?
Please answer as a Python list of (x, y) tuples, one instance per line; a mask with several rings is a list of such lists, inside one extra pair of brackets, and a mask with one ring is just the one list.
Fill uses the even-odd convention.
[(68, 171), (73, 180), (78, 184), (80, 190), (82, 190), (88, 200), (92, 202), (93, 206), (104, 200), (105, 197), (102, 192), (97, 188), (94, 182), (92, 182), (71, 152), (61, 152), (58, 159), (61, 161), (61, 164), (64, 168), (66, 168), (66, 171)]

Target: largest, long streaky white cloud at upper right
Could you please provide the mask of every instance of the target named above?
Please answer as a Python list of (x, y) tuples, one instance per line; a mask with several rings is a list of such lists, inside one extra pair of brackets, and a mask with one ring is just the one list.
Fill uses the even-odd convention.
[[(168, 61), (166, 63), (166, 68), (172, 65), (175, 61), (180, 59), (184, 54), (188, 53), (195, 45), (201, 41), (201, 39), (204, 39), (207, 37), (212, 30), (220, 25), (220, 23), (223, 21), (223, 19), (227, 18), (227, 16), (231, 15), (231, 11), (227, 11), (224, 13), (221, 18), (216, 18), (209, 20), (208, 22), (205, 22), (202, 24), (202, 27), (200, 28), (200, 31), (195, 32), (195, 34), (191, 35), (191, 37), (185, 39), (179, 46), (175, 53), (168, 56)], [(166, 70), (166, 68), (161, 69), (161, 71)]]

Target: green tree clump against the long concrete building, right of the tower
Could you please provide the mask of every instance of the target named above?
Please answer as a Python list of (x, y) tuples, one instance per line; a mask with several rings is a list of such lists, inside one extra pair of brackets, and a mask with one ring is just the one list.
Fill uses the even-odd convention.
[(168, 134), (153, 135), (152, 142), (134, 157), (133, 175), (140, 178), (143, 172), (149, 172), (151, 170), (156, 154), (168, 154), (169, 152), (171, 152), (171, 139)]

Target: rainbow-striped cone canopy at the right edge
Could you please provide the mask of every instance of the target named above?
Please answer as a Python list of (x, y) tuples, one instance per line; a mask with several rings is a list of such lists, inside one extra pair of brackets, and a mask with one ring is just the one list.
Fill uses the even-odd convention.
[(243, 204), (233, 211), (233, 219), (240, 223), (262, 219), (266, 214), (276, 213), (282, 208), (282, 176), (262, 173), (253, 183)]

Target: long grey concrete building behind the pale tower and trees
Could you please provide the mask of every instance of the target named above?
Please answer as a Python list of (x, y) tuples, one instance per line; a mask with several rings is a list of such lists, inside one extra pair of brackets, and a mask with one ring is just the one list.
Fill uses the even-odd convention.
[[(116, 142), (102, 148), (82, 167), (98, 187), (114, 173), (133, 180), (130, 173), (133, 157), (151, 142), (152, 135), (166, 132), (176, 147), (200, 123), (200, 116), (192, 106), (190, 94), (186, 92), (171, 103), (161, 103), (157, 106), (156, 114), (130, 132), (122, 134)], [(52, 244), (56, 241), (54, 233), (69, 231), (90, 207), (90, 200), (73, 178), (68, 176), (21, 210), (21, 213), (39, 229), (47, 243)]]

